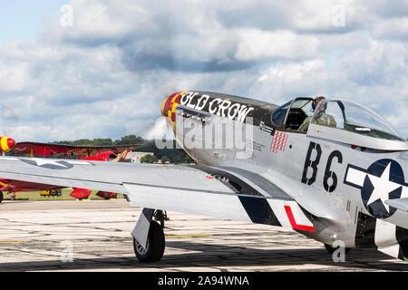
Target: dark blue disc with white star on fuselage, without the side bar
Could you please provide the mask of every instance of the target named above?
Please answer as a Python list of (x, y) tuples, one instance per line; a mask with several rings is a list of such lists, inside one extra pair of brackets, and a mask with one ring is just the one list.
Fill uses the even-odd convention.
[[(389, 174), (386, 171), (389, 168)], [(371, 177), (370, 177), (371, 176)], [(376, 182), (374, 182), (374, 180)], [(378, 187), (378, 183), (395, 185), (389, 192), (379, 193), (379, 189), (375, 189), (375, 185)], [(405, 183), (403, 177), (403, 169), (401, 165), (395, 160), (377, 160), (367, 169), (367, 175), (364, 179), (363, 189), (361, 189), (361, 198), (363, 200), (364, 207), (375, 218), (390, 218), (396, 211), (396, 208), (387, 206), (384, 203), (386, 199), (401, 198), (403, 192), (403, 185)], [(401, 185), (401, 187), (398, 187)], [(396, 189), (393, 189), (395, 188)], [(387, 189), (387, 187), (384, 187)], [(383, 190), (383, 189), (382, 189)], [(372, 198), (372, 195), (374, 197)], [(377, 198), (377, 195), (381, 194), (383, 198)]]

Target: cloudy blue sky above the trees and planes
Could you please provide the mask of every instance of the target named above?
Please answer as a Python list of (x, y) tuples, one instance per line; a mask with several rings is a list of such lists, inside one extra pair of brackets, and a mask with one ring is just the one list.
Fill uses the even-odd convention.
[(408, 137), (408, 0), (0, 1), (0, 133), (150, 136), (172, 92), (363, 103)]

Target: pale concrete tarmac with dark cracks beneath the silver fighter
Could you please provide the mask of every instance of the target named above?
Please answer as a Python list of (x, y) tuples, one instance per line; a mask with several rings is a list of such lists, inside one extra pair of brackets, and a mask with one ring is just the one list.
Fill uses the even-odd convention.
[(290, 229), (173, 212), (163, 259), (142, 264), (131, 238), (141, 208), (124, 199), (4, 201), (0, 209), (0, 271), (408, 271), (374, 249), (335, 263)]

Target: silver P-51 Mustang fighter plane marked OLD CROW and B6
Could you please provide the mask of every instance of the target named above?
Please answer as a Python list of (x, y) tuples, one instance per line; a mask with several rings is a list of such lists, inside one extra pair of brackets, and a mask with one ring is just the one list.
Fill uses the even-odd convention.
[[(179, 92), (164, 100), (161, 113), (199, 166), (5, 157), (0, 177), (124, 194), (143, 207), (131, 233), (142, 262), (163, 255), (163, 230), (154, 220), (163, 222), (162, 210), (291, 227), (329, 251), (342, 241), (406, 260), (408, 143), (356, 102), (323, 100), (315, 110), (313, 103), (296, 98), (278, 107)], [(305, 120), (307, 130), (299, 130)], [(225, 138), (231, 131), (234, 137)]]

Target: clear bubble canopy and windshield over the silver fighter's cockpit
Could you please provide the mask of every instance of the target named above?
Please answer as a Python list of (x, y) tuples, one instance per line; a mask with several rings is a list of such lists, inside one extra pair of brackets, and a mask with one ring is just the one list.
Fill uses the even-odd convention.
[(364, 105), (346, 99), (319, 102), (296, 98), (272, 112), (271, 121), (279, 131), (307, 133), (378, 150), (407, 150), (408, 143), (393, 125)]

